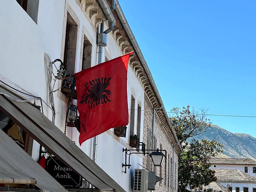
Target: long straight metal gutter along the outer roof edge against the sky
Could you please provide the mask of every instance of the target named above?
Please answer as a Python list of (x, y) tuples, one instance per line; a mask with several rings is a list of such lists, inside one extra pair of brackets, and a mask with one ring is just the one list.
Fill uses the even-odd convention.
[(162, 98), (161, 98), (161, 96), (160, 96), (160, 94), (159, 94), (159, 92), (158, 92), (158, 90), (156, 88), (156, 84), (155, 84), (155, 81), (154, 81), (154, 79), (153, 79), (153, 77), (151, 75), (151, 72), (150, 72), (149, 68), (148, 68), (148, 64), (147, 64), (144, 56), (141, 53), (139, 44), (137, 43), (137, 41), (135, 39), (135, 36), (132, 33), (132, 29), (130, 28), (130, 26), (129, 26), (129, 24), (128, 24), (125, 16), (124, 16), (124, 12), (123, 12), (123, 10), (122, 10), (118, 0), (116, 0), (115, 10), (116, 10), (116, 14), (117, 14), (119, 20), (121, 21), (121, 23), (122, 23), (122, 25), (123, 25), (123, 27), (125, 29), (125, 32), (127, 33), (128, 37), (129, 37), (129, 39), (130, 39), (130, 41), (132, 43), (132, 46), (134, 47), (134, 50), (135, 50), (135, 52), (136, 52), (136, 54), (137, 54), (137, 56), (138, 56), (138, 58), (139, 58), (139, 60), (140, 60), (140, 62), (142, 64), (143, 68), (145, 69), (145, 71), (147, 73), (147, 76), (148, 76), (148, 79), (150, 81), (150, 84), (151, 84), (154, 92), (156, 93), (156, 97), (157, 97), (160, 105), (163, 106), (162, 110), (163, 110), (165, 119), (166, 119), (166, 121), (167, 121), (167, 123), (168, 123), (168, 125), (169, 125), (169, 127), (170, 127), (170, 129), (172, 131), (172, 134), (174, 135), (174, 138), (175, 138), (176, 142), (178, 143), (180, 151), (182, 152), (183, 150), (182, 150), (182, 148), (180, 146), (180, 143), (179, 143), (179, 140), (178, 140), (178, 138), (177, 138), (177, 136), (175, 134), (175, 131), (172, 128), (172, 124), (170, 122), (170, 118), (169, 118), (168, 114), (166, 113), (166, 110), (164, 108), (164, 103), (163, 103)]

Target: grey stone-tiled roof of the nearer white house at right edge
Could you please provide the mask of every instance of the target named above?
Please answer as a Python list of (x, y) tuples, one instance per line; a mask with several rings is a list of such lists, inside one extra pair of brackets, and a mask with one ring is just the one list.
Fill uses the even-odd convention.
[(219, 183), (256, 183), (256, 178), (238, 169), (214, 169)]

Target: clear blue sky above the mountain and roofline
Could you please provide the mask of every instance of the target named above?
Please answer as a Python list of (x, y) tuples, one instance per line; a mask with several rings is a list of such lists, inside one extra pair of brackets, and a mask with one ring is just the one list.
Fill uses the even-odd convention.
[[(119, 0), (167, 111), (256, 116), (256, 1)], [(256, 137), (256, 118), (208, 116)]]

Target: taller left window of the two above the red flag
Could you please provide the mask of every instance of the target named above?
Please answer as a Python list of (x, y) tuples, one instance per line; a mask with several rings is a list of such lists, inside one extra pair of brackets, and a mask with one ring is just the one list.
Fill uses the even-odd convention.
[(68, 75), (73, 75), (75, 72), (76, 63), (76, 42), (77, 42), (77, 24), (68, 13), (66, 24), (66, 37), (64, 49), (64, 68)]

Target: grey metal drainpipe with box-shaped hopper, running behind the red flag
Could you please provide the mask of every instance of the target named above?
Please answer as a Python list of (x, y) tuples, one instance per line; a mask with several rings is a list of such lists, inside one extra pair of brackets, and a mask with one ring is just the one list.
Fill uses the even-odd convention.
[[(104, 31), (104, 21), (100, 24), (100, 33), (98, 33), (97, 44), (99, 45), (99, 55), (98, 55), (98, 64), (102, 62), (102, 49), (107, 46), (107, 34), (114, 29), (114, 24), (116, 19), (111, 11), (115, 9), (115, 0), (112, 0), (111, 8), (108, 6), (107, 0), (98, 0), (100, 6), (105, 13), (108, 22), (109, 28)], [(98, 145), (98, 136), (93, 137), (93, 152), (92, 152), (92, 161), (96, 163), (97, 158), (97, 145)]]

